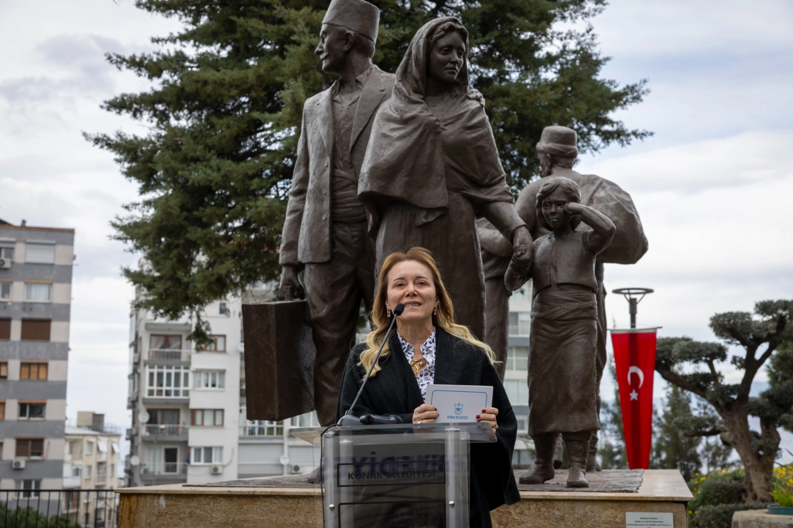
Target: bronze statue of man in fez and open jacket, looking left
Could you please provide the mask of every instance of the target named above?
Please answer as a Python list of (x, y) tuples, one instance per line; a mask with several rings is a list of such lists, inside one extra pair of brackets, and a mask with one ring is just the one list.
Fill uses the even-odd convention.
[(379, 24), (380, 9), (364, 0), (328, 6), (315, 52), (322, 70), (339, 79), (305, 101), (282, 234), (281, 291), (307, 301), (322, 425), (335, 421), (361, 300), (370, 309), (374, 295), (374, 249), (358, 201), (358, 173), (374, 114), (394, 84), (393, 74), (372, 63)]

